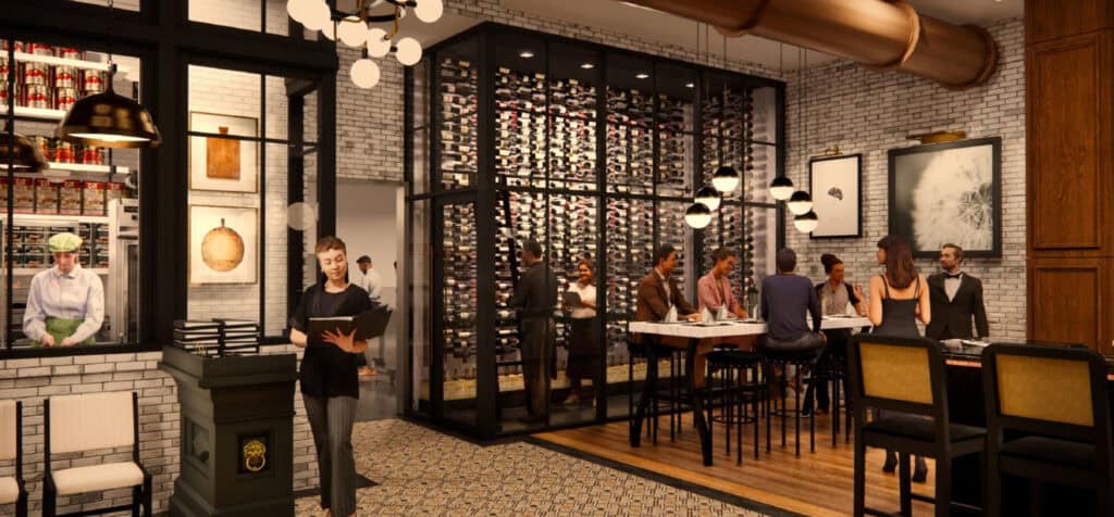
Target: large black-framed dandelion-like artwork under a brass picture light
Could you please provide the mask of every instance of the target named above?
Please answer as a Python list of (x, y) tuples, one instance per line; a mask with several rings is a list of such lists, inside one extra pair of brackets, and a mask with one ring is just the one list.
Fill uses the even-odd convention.
[(952, 242), (969, 257), (1001, 257), (1001, 138), (889, 151), (890, 233), (915, 257)]

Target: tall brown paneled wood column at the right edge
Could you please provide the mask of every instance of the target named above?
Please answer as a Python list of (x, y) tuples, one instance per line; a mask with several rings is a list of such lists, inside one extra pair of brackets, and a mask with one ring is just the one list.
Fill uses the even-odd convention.
[(1026, 0), (1028, 338), (1114, 354), (1114, 0)]

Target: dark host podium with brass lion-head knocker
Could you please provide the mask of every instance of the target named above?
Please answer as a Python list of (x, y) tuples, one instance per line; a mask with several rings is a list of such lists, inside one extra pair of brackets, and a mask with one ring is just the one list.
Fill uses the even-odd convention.
[(293, 354), (204, 357), (163, 348), (178, 385), (180, 469), (172, 516), (294, 515)]

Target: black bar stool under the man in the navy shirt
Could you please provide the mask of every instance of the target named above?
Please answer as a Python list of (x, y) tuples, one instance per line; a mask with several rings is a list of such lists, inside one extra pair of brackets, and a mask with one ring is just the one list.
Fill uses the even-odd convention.
[[(760, 344), (764, 344), (765, 336), (762, 337)], [(782, 396), (774, 396), (772, 392), (775, 389), (772, 378), (766, 381), (769, 392), (765, 397), (765, 414), (766, 414), (766, 453), (770, 451), (770, 434), (771, 434), (771, 420), (775, 415), (781, 416), (781, 446), (785, 447), (785, 417), (791, 411), (793, 414), (793, 422), (795, 428), (795, 455), (801, 456), (801, 370), (811, 367), (817, 360), (818, 350), (771, 350), (765, 346), (759, 347), (760, 355), (762, 356), (762, 369), (768, 372), (768, 376), (773, 377), (773, 372), (776, 371), (776, 367), (781, 367), (781, 385), (776, 388), (784, 388), (785, 377), (789, 367), (793, 367), (793, 398), (795, 402), (794, 409), (789, 409), (785, 407), (785, 399)], [(810, 380), (811, 381), (811, 380)], [(778, 407), (778, 400), (781, 400), (781, 407)], [(773, 407), (771, 408), (771, 404)], [(809, 450), (817, 450), (817, 419), (815, 411), (809, 411)]]

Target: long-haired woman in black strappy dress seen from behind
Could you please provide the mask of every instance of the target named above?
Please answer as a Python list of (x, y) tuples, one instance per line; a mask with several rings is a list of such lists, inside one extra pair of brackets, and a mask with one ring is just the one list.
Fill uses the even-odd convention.
[[(878, 264), (886, 266), (886, 272), (870, 277), (870, 322), (871, 334), (893, 337), (920, 337), (917, 320), (928, 325), (932, 319), (932, 308), (928, 299), (928, 282), (917, 271), (909, 245), (897, 236), (886, 236), (878, 241)], [(898, 465), (897, 455), (886, 451), (882, 471), (892, 473)], [(928, 465), (917, 456), (917, 468), (912, 480), (925, 483)]]

